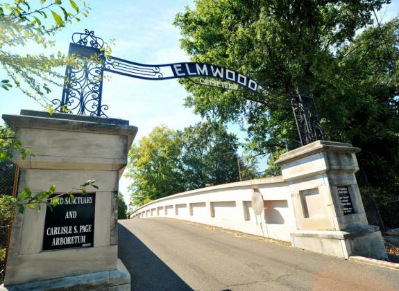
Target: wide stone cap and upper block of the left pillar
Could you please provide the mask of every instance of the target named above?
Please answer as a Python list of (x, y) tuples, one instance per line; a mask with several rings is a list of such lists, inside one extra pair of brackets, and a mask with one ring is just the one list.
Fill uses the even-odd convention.
[(15, 155), (22, 168), (123, 170), (137, 134), (137, 127), (117, 118), (33, 110), (2, 117), (35, 155)]

